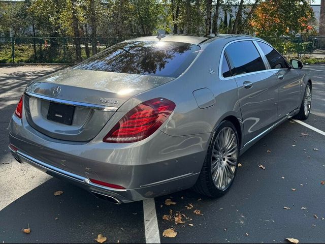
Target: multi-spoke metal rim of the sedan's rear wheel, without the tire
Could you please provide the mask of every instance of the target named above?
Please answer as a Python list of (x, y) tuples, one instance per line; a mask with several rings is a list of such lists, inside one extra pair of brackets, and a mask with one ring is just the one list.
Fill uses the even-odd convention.
[(212, 149), (211, 173), (215, 187), (220, 191), (226, 189), (235, 176), (237, 147), (232, 128), (224, 127), (219, 131)]

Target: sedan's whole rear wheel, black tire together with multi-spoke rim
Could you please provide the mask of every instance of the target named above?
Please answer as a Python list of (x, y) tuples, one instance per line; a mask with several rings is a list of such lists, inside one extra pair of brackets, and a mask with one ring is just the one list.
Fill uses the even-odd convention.
[[(229, 149), (225, 148), (224, 145), (219, 146), (226, 142), (225, 137), (222, 137), (222, 135), (229, 135), (231, 137), (231, 141), (228, 142), (228, 146), (230, 145)], [(222, 143), (220, 138), (223, 138)], [(193, 187), (194, 191), (213, 198), (220, 197), (229, 191), (238, 168), (238, 138), (237, 130), (230, 121), (224, 120), (219, 124), (208, 148), (200, 176)], [(233, 173), (232, 178), (228, 177), (231, 175), (231, 172)], [(222, 178), (221, 175), (227, 176)], [(223, 180), (220, 184), (221, 178)]]

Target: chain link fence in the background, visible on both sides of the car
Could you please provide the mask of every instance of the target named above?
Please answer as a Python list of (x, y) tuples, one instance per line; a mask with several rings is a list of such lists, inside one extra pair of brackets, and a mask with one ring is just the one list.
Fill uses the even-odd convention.
[[(98, 38), (97, 51), (128, 38)], [(325, 59), (325, 36), (262, 37), (288, 58)], [(92, 55), (90, 38), (79, 38), (82, 59)], [(0, 63), (76, 63), (75, 38), (0, 37)]]

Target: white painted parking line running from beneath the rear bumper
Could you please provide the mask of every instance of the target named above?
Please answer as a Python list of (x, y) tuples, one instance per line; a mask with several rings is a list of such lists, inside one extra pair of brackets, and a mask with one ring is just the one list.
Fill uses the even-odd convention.
[(143, 216), (146, 243), (160, 243), (154, 198), (143, 200)]

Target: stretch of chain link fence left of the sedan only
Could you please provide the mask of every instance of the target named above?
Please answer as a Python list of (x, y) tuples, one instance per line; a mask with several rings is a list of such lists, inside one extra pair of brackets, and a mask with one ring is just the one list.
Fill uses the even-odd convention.
[[(98, 38), (100, 52), (127, 38)], [(76, 63), (75, 38), (0, 37), (0, 63)], [(92, 55), (90, 38), (79, 38), (82, 59)]]

